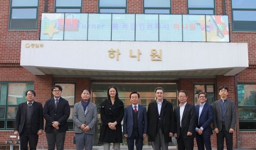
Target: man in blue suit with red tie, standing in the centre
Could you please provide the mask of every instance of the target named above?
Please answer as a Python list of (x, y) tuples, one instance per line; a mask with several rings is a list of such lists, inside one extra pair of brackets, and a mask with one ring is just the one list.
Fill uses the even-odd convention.
[(142, 150), (143, 140), (148, 134), (146, 107), (138, 104), (140, 94), (134, 91), (130, 94), (132, 105), (124, 109), (124, 137), (127, 138), (128, 150)]

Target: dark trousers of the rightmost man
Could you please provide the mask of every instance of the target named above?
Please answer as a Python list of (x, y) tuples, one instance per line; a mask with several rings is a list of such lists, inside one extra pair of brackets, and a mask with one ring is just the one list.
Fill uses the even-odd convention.
[(224, 149), (224, 138), (226, 139), (227, 150), (233, 150), (233, 133), (226, 131), (225, 126), (217, 134), (217, 150)]

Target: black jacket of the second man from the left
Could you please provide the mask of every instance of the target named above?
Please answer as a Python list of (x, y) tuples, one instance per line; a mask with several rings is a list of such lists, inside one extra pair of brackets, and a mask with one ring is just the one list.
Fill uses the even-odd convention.
[(66, 132), (68, 130), (67, 120), (70, 115), (70, 106), (64, 98), (59, 98), (57, 108), (55, 108), (54, 98), (47, 100), (44, 104), (43, 115), (46, 120), (45, 132), (53, 132), (52, 122), (54, 121), (59, 122), (58, 132)]

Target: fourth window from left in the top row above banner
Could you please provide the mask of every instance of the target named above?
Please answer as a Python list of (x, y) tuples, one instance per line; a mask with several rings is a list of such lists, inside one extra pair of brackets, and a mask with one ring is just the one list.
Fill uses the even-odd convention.
[(144, 0), (145, 14), (171, 14), (171, 0)]

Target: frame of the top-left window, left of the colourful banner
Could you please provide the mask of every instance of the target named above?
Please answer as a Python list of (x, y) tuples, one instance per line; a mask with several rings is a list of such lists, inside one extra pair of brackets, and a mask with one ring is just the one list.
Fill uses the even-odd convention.
[[(12, 6), (12, 1), (10, 0), (10, 12), (9, 12), (9, 21), (8, 21), (8, 30), (37, 30), (38, 28), (38, 10), (39, 10), (39, 0), (37, 6)], [(12, 9), (15, 8), (36, 8), (36, 18), (35, 19), (12, 19)], [(12, 21), (36, 21), (35, 28), (11, 28)]]

